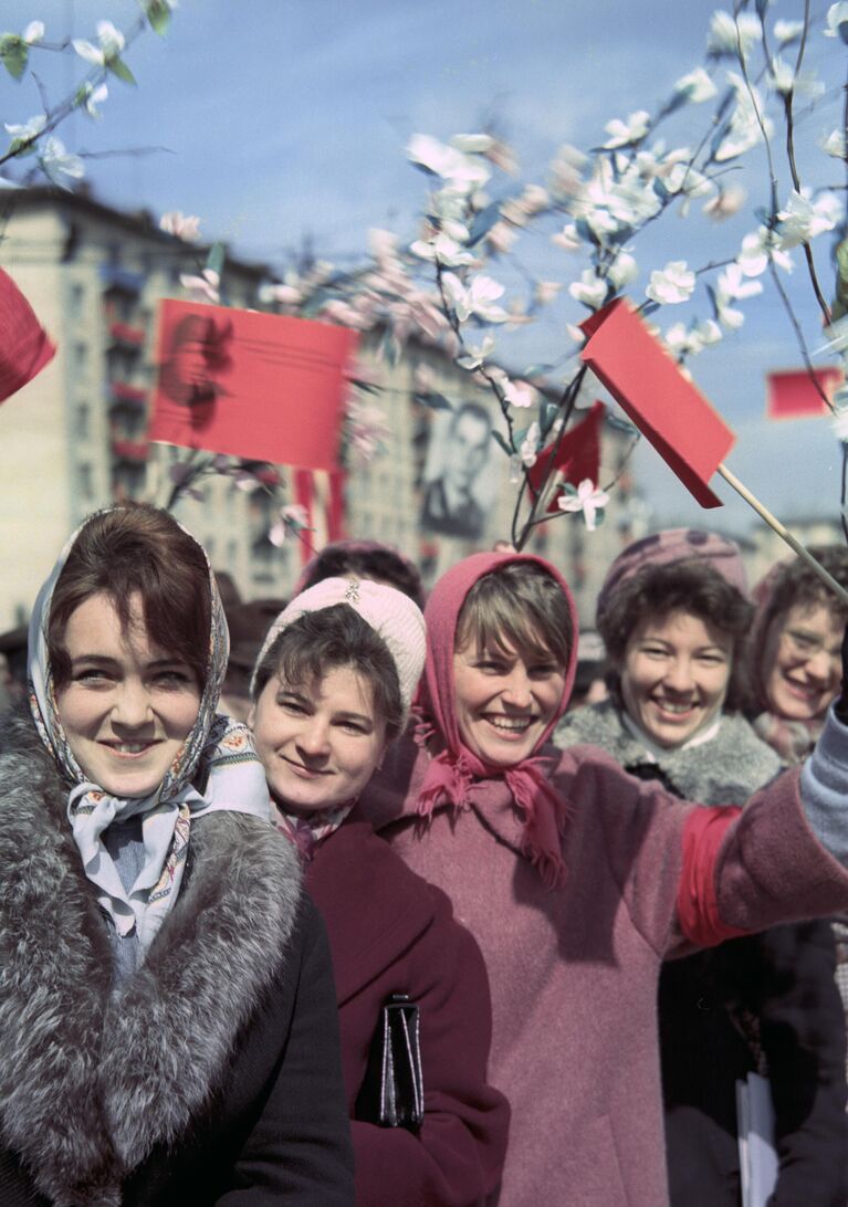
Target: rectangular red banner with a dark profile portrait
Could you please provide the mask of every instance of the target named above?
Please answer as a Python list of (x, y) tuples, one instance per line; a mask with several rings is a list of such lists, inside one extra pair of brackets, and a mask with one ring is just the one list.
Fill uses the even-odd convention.
[(150, 439), (332, 471), (355, 346), (330, 323), (165, 299)]

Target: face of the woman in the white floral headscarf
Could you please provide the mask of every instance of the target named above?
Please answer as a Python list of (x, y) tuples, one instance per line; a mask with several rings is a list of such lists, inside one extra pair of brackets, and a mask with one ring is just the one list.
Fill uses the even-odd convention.
[(150, 795), (197, 721), (194, 675), (150, 643), (139, 596), (128, 632), (108, 595), (89, 596), (71, 613), (63, 646), (70, 678), (57, 695), (59, 721), (83, 775), (115, 797)]

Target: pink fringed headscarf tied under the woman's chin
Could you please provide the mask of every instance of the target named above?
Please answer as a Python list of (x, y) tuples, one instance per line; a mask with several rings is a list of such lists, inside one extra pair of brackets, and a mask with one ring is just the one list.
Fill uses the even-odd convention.
[[(457, 622), (465, 596), (477, 579), (515, 561), (541, 566), (559, 585), (571, 616), (574, 641), (565, 667), (565, 683), (559, 706), (551, 717), (533, 754), (504, 770), (483, 763), (464, 745), (460, 737), (457, 721), (453, 654)], [(488, 789), (495, 788), (492, 781), (505, 780), (515, 804), (524, 818), (522, 851), (538, 865), (547, 887), (561, 886), (564, 876), (561, 835), (568, 816), (568, 801), (563, 800), (551, 787), (546, 775), (546, 770), (551, 765), (550, 757), (538, 752), (565, 711), (577, 666), (580, 625), (565, 579), (542, 558), (515, 553), (475, 553), (458, 562), (440, 578), (432, 589), (424, 616), (428, 629), (428, 654), (420, 702), (424, 713), (432, 719), (438, 729), (446, 748), (435, 756), (426, 770), (418, 797), (418, 812), (429, 816), (434, 807), (446, 799), (457, 810), (467, 807), (470, 805), (469, 789), (471, 788), (474, 788), (475, 804), (484, 807)], [(559, 752), (557, 752), (558, 754)], [(495, 791), (494, 797), (500, 797), (500, 792)]]

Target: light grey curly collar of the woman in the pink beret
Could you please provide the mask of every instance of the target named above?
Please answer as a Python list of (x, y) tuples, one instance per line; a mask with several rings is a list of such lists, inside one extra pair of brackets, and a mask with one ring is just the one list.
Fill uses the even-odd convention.
[[(562, 748), (581, 742), (599, 746), (626, 771), (651, 763), (610, 700), (567, 713), (553, 741)], [(743, 717), (732, 713), (722, 716), (710, 741), (689, 750), (670, 750), (657, 760), (657, 766), (679, 795), (702, 805), (742, 805), (783, 769), (772, 747), (756, 736)]]

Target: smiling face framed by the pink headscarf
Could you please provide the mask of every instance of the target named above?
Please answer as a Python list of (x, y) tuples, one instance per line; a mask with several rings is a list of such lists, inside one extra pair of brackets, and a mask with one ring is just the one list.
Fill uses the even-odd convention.
[(553, 719), (565, 687), (553, 657), (524, 658), (511, 646), (481, 648), (476, 640), (453, 657), (459, 734), (490, 766), (528, 758)]

